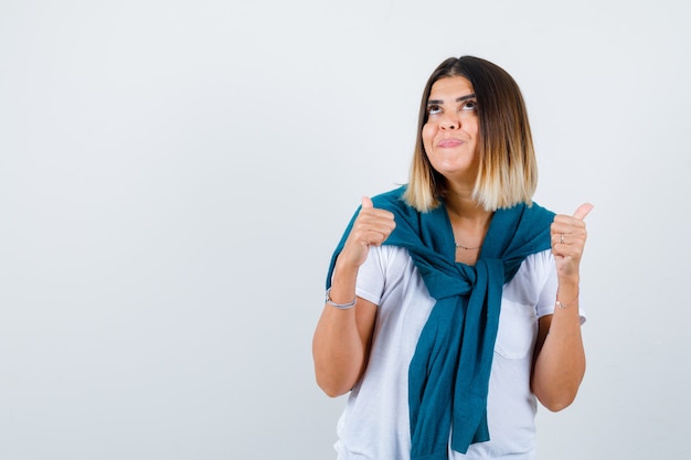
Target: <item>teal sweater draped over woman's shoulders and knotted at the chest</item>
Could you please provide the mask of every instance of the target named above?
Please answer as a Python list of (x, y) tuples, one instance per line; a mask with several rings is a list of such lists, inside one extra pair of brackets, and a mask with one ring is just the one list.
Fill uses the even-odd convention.
[[(531, 254), (551, 247), (554, 213), (532, 204), (498, 210), (475, 266), (456, 263), (456, 244), (446, 206), (417, 212), (403, 201), (405, 186), (374, 196), (374, 207), (391, 211), (396, 227), (384, 242), (408, 250), (436, 300), (408, 368), (411, 459), (446, 460), (451, 449), (466, 453), (489, 440), (487, 394), (503, 285)], [(331, 258), (336, 259), (352, 224)]]

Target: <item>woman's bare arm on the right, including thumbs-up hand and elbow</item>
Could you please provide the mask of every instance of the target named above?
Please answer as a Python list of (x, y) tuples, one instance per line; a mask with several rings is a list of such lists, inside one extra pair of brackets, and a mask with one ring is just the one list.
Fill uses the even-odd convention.
[(585, 374), (578, 266), (586, 239), (583, 218), (592, 207), (585, 204), (573, 216), (557, 215), (551, 228), (559, 303), (555, 302), (554, 314), (540, 319), (531, 387), (540, 403), (553, 411), (573, 403)]

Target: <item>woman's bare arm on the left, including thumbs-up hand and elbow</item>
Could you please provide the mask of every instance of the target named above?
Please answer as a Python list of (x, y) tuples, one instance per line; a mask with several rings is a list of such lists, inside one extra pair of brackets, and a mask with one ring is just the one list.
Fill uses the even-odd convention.
[[(330, 298), (336, 303), (355, 299), (358, 270), (366, 260), (371, 245), (381, 245), (395, 223), (389, 211), (372, 207), (363, 199), (331, 281)], [(329, 396), (348, 393), (366, 367), (376, 318), (376, 306), (360, 297), (353, 308), (340, 310), (325, 304), (312, 339), (317, 384)]]

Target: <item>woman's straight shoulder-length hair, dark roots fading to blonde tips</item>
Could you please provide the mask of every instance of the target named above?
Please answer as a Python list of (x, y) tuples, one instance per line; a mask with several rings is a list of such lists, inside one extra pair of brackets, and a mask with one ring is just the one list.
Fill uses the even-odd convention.
[(448, 193), (446, 179), (429, 162), (422, 131), (435, 82), (461, 76), (472, 85), (479, 120), (479, 170), (472, 197), (487, 211), (532, 204), (538, 164), (521, 90), (503, 68), (475, 56), (449, 57), (433, 72), (419, 105), (417, 139), (404, 200), (417, 211), (437, 207)]

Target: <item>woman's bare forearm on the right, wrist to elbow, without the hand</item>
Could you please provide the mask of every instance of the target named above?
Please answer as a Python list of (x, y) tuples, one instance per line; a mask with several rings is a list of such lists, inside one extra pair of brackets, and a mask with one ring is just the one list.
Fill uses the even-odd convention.
[[(550, 410), (567, 407), (576, 397), (585, 374), (585, 352), (581, 335), (577, 279), (561, 281), (549, 331), (533, 366), (532, 389)], [(540, 341), (540, 340), (539, 340)]]

